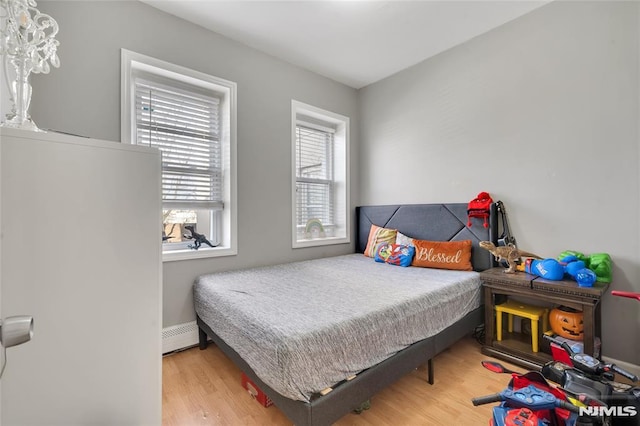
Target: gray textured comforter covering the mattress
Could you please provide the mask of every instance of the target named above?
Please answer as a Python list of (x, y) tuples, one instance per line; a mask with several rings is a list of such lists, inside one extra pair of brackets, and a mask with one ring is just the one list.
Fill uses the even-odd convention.
[(476, 272), (362, 254), (204, 275), (196, 313), (280, 394), (317, 392), (437, 334), (480, 305)]

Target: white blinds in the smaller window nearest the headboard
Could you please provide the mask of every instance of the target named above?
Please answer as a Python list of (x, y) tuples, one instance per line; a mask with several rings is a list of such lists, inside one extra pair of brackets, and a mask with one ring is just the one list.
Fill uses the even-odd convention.
[(333, 132), (296, 126), (296, 220), (333, 224)]

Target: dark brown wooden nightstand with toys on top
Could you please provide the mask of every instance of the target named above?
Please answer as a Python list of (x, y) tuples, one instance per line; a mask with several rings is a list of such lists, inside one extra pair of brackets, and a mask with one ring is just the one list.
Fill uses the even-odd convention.
[(608, 284), (596, 283), (593, 287), (580, 287), (572, 280), (549, 281), (524, 272), (506, 274), (503, 271), (504, 268), (499, 267), (480, 273), (485, 306), (485, 342), (482, 353), (530, 369), (538, 369), (551, 360), (550, 355), (531, 350), (530, 336), (503, 333), (501, 341), (496, 339), (495, 305), (514, 297), (533, 303), (538, 301), (541, 306), (562, 305), (582, 311), (584, 352), (594, 355), (595, 339), (601, 336), (599, 302), (609, 287)]

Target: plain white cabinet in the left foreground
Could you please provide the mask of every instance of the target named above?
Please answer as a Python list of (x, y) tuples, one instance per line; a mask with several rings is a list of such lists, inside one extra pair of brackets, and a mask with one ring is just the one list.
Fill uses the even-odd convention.
[(160, 153), (0, 129), (7, 425), (160, 425)]

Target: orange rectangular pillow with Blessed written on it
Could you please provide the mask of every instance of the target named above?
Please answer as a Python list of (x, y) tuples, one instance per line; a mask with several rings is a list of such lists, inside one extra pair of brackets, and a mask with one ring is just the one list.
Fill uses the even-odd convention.
[(463, 241), (425, 241), (413, 240), (416, 255), (412, 266), (423, 268), (455, 269), (472, 271), (471, 240)]

